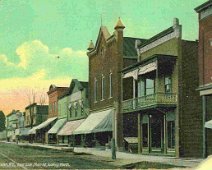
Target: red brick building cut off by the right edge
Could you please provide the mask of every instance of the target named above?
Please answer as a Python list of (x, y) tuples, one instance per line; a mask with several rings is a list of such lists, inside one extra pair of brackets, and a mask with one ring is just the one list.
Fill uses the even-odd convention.
[(212, 1), (195, 8), (199, 15), (199, 92), (202, 98), (203, 157), (212, 154)]

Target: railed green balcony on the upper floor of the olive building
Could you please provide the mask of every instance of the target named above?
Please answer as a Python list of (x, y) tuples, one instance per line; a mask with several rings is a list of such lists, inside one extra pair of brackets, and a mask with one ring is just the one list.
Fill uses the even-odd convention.
[(156, 106), (175, 106), (177, 95), (175, 93), (155, 93), (122, 102), (122, 113), (134, 112)]

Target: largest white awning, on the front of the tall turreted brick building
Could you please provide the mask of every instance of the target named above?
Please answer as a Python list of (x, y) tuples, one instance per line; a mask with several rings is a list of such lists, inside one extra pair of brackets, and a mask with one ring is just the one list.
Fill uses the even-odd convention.
[(114, 109), (91, 113), (73, 134), (87, 134), (112, 131)]

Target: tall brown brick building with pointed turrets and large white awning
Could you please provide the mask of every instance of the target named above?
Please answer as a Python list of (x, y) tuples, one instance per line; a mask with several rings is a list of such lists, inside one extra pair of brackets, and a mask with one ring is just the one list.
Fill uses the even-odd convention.
[(137, 61), (136, 38), (124, 37), (124, 28), (120, 19), (113, 34), (101, 26), (96, 44), (88, 47), (90, 114), (83, 124), (90, 127), (80, 131), (101, 145), (113, 137), (118, 149), (123, 144), (121, 70)]

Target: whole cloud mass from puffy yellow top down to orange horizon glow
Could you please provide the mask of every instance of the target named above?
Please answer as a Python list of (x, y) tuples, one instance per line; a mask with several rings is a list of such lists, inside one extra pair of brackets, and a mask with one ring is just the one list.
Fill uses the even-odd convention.
[(0, 54), (0, 95), (4, 96), (0, 98), (1, 110), (5, 113), (24, 110), (28, 105), (25, 93), (29, 89), (46, 93), (51, 84), (69, 86), (72, 78), (87, 80), (86, 51), (70, 47), (52, 51), (42, 41), (33, 40), (17, 47), (18, 60)]

